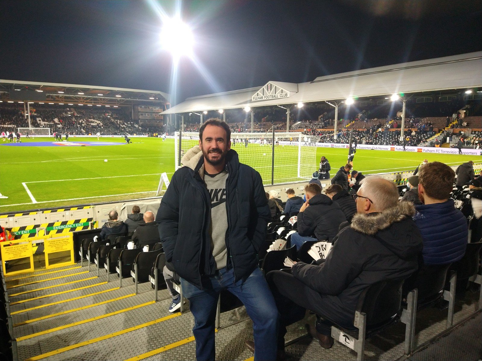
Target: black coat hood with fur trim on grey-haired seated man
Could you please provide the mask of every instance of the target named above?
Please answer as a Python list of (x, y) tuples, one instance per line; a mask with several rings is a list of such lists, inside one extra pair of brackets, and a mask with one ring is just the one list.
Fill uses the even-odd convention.
[(380, 213), (356, 214), (351, 229), (375, 237), (402, 259), (413, 257), (422, 251), (421, 235), (412, 216), (415, 207), (410, 202), (400, 202), (397, 206)]

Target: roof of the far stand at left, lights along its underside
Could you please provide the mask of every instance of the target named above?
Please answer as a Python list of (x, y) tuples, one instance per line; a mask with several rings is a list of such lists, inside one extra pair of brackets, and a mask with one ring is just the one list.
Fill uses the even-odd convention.
[[(10, 91), (28, 90), (45, 93), (45, 100), (52, 103), (82, 103), (134, 105), (169, 103), (170, 95), (159, 90), (140, 90), (100, 87), (80, 84), (44, 83), (37, 81), (0, 79), (0, 99), (9, 100)], [(35, 100), (36, 98), (33, 98)], [(25, 99), (31, 100), (31, 99)]]

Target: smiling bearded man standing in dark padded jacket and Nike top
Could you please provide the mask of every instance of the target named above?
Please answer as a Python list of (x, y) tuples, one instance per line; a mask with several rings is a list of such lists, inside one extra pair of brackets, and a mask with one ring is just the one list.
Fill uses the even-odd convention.
[(276, 358), (278, 311), (258, 267), (270, 219), (261, 176), (239, 162), (225, 122), (208, 119), (199, 146), (182, 158), (156, 221), (166, 260), (181, 277), (194, 316), (196, 359), (214, 360), (221, 289), (244, 303), (253, 320), (255, 360)]

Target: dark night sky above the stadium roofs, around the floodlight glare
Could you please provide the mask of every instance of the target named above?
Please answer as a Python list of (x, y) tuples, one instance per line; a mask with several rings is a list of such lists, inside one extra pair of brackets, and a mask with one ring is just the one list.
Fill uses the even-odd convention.
[[(198, 0), (182, 18), (201, 66), (181, 60), (178, 103), (482, 50), (481, 0)], [(1, 1), (0, 78), (172, 93), (161, 24), (148, 0)]]

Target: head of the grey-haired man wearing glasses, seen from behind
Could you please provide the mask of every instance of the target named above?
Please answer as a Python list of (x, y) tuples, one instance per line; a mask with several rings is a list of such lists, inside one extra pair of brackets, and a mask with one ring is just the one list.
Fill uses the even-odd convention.
[(359, 213), (382, 212), (398, 204), (398, 191), (394, 182), (370, 176), (362, 180), (361, 185), (357, 194), (369, 200), (357, 199)]

